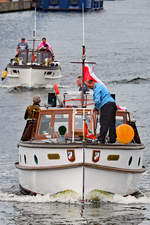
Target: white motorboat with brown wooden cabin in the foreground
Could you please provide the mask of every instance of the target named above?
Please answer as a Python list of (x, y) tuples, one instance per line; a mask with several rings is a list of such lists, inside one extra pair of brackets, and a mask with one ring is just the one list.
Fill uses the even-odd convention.
[[(65, 97), (70, 104), (67, 100)], [(144, 145), (135, 122), (127, 110), (118, 110), (117, 125), (132, 126), (134, 137), (126, 144), (102, 145), (91, 137), (99, 133), (98, 117), (93, 109), (81, 106), (41, 107), (30, 131), (26, 128), (24, 132), (28, 137), (24, 135), (18, 144), (19, 162), (15, 165), (21, 189), (34, 194), (69, 190), (81, 199), (87, 199), (94, 190), (123, 196), (137, 192), (138, 179), (145, 168), (142, 166)]]

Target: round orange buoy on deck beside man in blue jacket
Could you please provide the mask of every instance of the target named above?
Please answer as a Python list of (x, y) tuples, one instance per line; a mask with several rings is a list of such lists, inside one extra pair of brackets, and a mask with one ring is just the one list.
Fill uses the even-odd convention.
[(128, 124), (121, 124), (116, 128), (117, 141), (121, 144), (129, 144), (134, 138), (134, 130)]

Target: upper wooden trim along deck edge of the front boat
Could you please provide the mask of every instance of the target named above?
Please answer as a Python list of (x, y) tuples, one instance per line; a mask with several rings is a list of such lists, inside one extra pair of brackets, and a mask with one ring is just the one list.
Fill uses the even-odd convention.
[(23, 142), (20, 141), (18, 147), (28, 147), (28, 148), (49, 148), (49, 149), (66, 149), (66, 148), (90, 148), (90, 149), (114, 149), (114, 150), (142, 150), (144, 149), (143, 144), (130, 144), (130, 145), (121, 145), (121, 144), (52, 144), (52, 143), (33, 143), (33, 142)]

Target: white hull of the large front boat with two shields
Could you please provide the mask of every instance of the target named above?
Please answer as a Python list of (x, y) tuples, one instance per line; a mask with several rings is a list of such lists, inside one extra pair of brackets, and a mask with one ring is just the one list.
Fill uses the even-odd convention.
[[(40, 194), (56, 194), (65, 190), (75, 191), (86, 199), (93, 190), (121, 194), (133, 194), (138, 190), (142, 168), (143, 145), (106, 145), (81, 148), (64, 146), (22, 144), (19, 146), (19, 183), (23, 189)], [(75, 160), (68, 160), (67, 150), (74, 150)], [(93, 161), (94, 151), (100, 158)], [(58, 154), (60, 159), (48, 159), (48, 154)], [(38, 159), (35, 161), (35, 155)], [(108, 156), (119, 155), (118, 160)], [(132, 156), (132, 161), (130, 160)], [(26, 158), (26, 161), (24, 160)], [(131, 164), (129, 163), (131, 161)]]

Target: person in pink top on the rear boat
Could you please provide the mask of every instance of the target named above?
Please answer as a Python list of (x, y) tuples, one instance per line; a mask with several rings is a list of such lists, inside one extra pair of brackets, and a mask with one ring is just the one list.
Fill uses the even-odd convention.
[(54, 60), (54, 52), (51, 45), (46, 41), (46, 38), (43, 37), (41, 43), (38, 45), (37, 49), (39, 51), (46, 51), (48, 52), (49, 58), (51, 57)]

